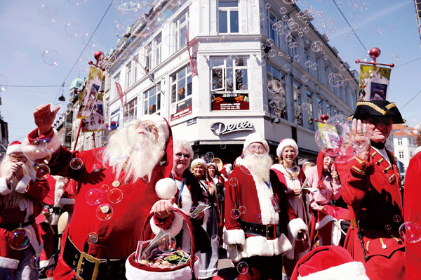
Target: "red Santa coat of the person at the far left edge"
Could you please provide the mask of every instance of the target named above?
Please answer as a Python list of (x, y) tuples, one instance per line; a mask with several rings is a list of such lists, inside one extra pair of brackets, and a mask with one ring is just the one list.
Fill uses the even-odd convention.
[[(18, 185), (16, 185), (15, 191), (25, 194), (26, 199), (13, 208), (6, 209), (4, 206), (0, 206), (0, 224), (33, 220), (41, 212), (42, 199), (48, 193), (48, 182), (46, 180), (36, 180), (35, 175), (32, 177), (23, 175)], [(0, 196), (7, 196), (10, 193), (11, 189), (6, 184), (6, 177), (0, 177)], [(42, 242), (39, 239), (35, 222), (32, 225), (27, 225), (25, 229), (32, 233), (31, 245), (35, 253), (41, 253)], [(16, 251), (8, 246), (8, 238), (11, 235), (12, 231), (0, 228), (0, 269), (2, 267), (18, 268), (22, 251)]]

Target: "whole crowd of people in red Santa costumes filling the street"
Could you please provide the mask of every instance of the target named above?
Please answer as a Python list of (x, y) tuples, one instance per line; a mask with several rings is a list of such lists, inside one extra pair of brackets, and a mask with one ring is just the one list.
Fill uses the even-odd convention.
[(419, 240), (399, 234), (403, 222), (421, 230), (421, 153), (404, 204), (385, 148), (392, 124), (404, 122), (392, 102), (357, 103), (347, 133), (361, 149), (352, 159), (337, 162), (324, 149), (302, 166), (295, 140), (280, 140), (274, 159), (257, 132), (233, 164), (206, 161), (159, 115), (117, 129), (106, 147), (70, 152), (51, 126), (56, 113), (36, 108), (37, 128), (1, 161), (0, 279), (142, 279), (128, 258), (141, 233), (170, 234), (186, 252), (194, 246), (194, 271), (174, 279), (222, 279), (220, 247), (239, 280), (421, 276)]

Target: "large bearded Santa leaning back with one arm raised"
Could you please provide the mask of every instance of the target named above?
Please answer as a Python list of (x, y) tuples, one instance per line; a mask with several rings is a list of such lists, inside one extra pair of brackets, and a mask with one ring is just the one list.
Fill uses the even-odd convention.
[[(22, 144), (30, 159), (48, 161), (51, 175), (72, 178), (79, 185), (53, 277), (125, 279), (124, 262), (159, 200), (155, 184), (171, 174), (171, 128), (161, 116), (146, 115), (114, 131), (105, 149), (70, 152), (51, 127), (57, 112), (50, 105), (36, 108), (38, 128)], [(36, 146), (40, 140), (48, 142), (46, 149)]]

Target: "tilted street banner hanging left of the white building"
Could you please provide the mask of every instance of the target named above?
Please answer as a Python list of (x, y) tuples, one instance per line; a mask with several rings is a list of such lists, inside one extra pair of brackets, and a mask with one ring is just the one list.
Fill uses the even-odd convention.
[(91, 115), (92, 109), (95, 106), (95, 101), (98, 97), (104, 76), (101, 69), (91, 66), (89, 69), (88, 81), (86, 81), (83, 93), (79, 93), (79, 112), (77, 119), (88, 119)]

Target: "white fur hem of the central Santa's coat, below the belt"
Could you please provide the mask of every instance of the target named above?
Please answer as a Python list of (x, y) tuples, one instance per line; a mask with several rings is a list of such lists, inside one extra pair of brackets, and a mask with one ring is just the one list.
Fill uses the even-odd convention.
[(281, 234), (274, 240), (267, 240), (263, 236), (250, 236), (246, 238), (242, 247), (241, 250), (240, 247), (229, 246), (229, 258), (234, 262), (238, 262), (242, 258), (250, 258), (255, 255), (271, 257), (272, 255), (281, 255), (293, 248), (285, 234)]

